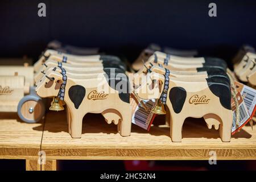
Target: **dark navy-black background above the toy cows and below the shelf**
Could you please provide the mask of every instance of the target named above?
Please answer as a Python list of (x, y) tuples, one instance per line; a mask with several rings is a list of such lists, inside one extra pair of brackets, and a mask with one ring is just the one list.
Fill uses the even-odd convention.
[[(38, 3), (46, 3), (39, 18)], [(208, 16), (210, 2), (217, 17)], [(230, 62), (242, 44), (256, 47), (256, 1), (51, 1), (1, 0), (0, 57), (36, 60), (49, 41), (126, 56), (133, 61), (150, 43), (198, 49)], [(156, 162), (172, 169), (255, 169), (255, 161)], [(0, 169), (22, 169), (24, 160), (0, 160)], [(125, 169), (121, 161), (63, 161), (60, 169)], [(170, 168), (169, 168), (170, 169)]]

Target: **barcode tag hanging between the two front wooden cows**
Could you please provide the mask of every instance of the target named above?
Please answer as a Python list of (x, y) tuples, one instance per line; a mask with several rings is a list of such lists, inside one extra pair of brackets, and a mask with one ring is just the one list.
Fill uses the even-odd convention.
[(155, 100), (142, 100), (142, 102), (147, 106), (148, 110), (144, 109), (142, 104), (137, 105), (131, 122), (145, 130), (149, 130), (154, 119), (154, 113), (151, 112), (151, 109), (155, 106)]

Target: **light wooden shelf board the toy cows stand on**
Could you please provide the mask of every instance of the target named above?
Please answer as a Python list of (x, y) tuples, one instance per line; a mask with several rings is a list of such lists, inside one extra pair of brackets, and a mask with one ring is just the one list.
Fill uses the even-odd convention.
[[(5, 119), (7, 118), (7, 119)], [(250, 126), (221, 142), (218, 130), (207, 128), (202, 119), (188, 118), (183, 126), (181, 143), (171, 142), (170, 129), (157, 117), (150, 131), (133, 125), (130, 137), (121, 137), (117, 126), (108, 125), (100, 114), (84, 118), (82, 138), (68, 134), (65, 112), (49, 112), (35, 124), (19, 121), (16, 114), (2, 114), (0, 119), (0, 158), (38, 159), (46, 152), (47, 160), (208, 160), (216, 151), (217, 160), (255, 160), (256, 131)], [(255, 125), (255, 123), (254, 123)], [(43, 130), (44, 129), (44, 130)], [(56, 166), (56, 164), (55, 164)]]

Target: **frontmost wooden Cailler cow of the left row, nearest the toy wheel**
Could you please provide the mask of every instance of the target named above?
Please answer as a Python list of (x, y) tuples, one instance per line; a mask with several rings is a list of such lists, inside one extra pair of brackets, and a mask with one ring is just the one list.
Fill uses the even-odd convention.
[(65, 101), (71, 118), (69, 133), (73, 138), (81, 138), (82, 118), (86, 113), (103, 113), (110, 109), (122, 118), (118, 123), (119, 133), (130, 135), (130, 84), (123, 73), (86, 79), (67, 77), (65, 69), (61, 73), (48, 71), (36, 84), (36, 93), (40, 97), (59, 97)]

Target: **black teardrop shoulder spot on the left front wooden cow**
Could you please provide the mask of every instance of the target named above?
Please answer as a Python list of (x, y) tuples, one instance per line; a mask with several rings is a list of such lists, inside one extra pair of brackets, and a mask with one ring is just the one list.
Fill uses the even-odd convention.
[(85, 96), (85, 88), (81, 85), (73, 85), (68, 90), (68, 96), (70, 100), (75, 105), (76, 109), (79, 109), (80, 104), (82, 103), (82, 100), (84, 100)]

